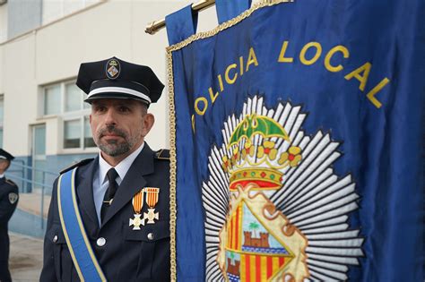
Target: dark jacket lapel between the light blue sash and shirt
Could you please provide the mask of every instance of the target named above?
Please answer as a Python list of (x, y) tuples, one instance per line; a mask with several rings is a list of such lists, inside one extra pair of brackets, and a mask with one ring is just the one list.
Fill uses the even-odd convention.
[(82, 221), (87, 223), (85, 218), (90, 218), (93, 225), (96, 227), (99, 226), (99, 222), (98, 222), (96, 208), (94, 207), (94, 200), (93, 200), (93, 176), (98, 167), (99, 167), (99, 157), (95, 158), (87, 166), (86, 169), (81, 170), (79, 175), (80, 181), (77, 184), (77, 188), (76, 188), (78, 199), (80, 201), (79, 203), (79, 206), (81, 207), (80, 210), (82, 211)]

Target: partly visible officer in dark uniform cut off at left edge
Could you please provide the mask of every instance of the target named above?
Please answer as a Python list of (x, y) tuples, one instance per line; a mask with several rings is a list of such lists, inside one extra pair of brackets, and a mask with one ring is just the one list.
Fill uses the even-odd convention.
[(9, 272), (9, 235), (7, 223), (12, 218), (13, 211), (18, 204), (18, 186), (4, 177), (4, 172), (9, 168), (13, 156), (0, 149), (0, 281), (12, 281)]

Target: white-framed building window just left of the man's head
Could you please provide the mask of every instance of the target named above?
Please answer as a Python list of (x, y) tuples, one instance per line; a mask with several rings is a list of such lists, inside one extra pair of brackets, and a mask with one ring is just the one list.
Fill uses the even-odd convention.
[(64, 150), (95, 148), (91, 138), (89, 115), (91, 107), (75, 81), (48, 85), (43, 89), (44, 115), (57, 115), (63, 120)]

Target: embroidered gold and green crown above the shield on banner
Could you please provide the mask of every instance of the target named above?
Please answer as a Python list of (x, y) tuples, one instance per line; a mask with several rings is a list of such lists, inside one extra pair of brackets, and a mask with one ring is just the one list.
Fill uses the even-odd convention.
[(290, 143), (288, 133), (273, 118), (246, 115), (230, 136), (228, 155), (221, 158), (221, 167), (230, 174), (230, 191), (248, 183), (261, 189), (281, 187), (282, 168), (296, 167), (301, 161), (301, 149)]

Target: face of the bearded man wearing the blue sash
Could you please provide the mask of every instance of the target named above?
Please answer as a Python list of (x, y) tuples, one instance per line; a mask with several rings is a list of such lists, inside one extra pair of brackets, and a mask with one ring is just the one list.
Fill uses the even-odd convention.
[(126, 158), (139, 148), (153, 122), (143, 103), (133, 99), (100, 98), (91, 103), (93, 140), (113, 158)]

